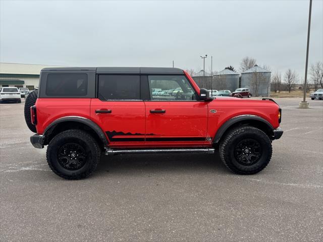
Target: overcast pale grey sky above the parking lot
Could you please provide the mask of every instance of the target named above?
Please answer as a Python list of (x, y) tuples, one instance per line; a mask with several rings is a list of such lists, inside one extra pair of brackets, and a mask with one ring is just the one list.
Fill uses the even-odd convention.
[[(244, 56), (304, 76), (309, 1), (3, 1), (1, 62), (236, 70)], [(323, 61), (313, 1), (309, 63)], [(205, 59), (210, 69), (210, 58)]]

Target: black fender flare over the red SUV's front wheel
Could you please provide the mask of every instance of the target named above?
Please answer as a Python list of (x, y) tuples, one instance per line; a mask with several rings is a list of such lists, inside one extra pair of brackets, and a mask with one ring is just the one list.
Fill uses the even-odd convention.
[(227, 120), (226, 123), (224, 123), (220, 127), (220, 129), (217, 131), (216, 136), (214, 137), (213, 143), (214, 144), (218, 143), (221, 140), (224, 133), (234, 124), (237, 124), (242, 121), (248, 121), (248, 120), (255, 120), (257, 122), (261, 122), (263, 125), (265, 125), (265, 127), (268, 130), (270, 131), (274, 130), (274, 127), (271, 125), (271, 123), (269, 123), (266, 119), (262, 117), (259, 117), (257, 115), (251, 115), (251, 114), (239, 115), (239, 116), (230, 118), (229, 120)]

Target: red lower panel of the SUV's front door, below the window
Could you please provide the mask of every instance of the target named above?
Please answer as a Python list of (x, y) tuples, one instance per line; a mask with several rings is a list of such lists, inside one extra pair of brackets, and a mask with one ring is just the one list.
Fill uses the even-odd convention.
[(147, 145), (205, 145), (207, 103), (145, 101)]

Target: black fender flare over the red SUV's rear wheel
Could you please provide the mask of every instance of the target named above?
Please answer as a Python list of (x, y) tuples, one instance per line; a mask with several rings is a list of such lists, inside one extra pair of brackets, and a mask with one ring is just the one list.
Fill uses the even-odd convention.
[(106, 136), (104, 132), (101, 130), (101, 128), (97, 124), (95, 124), (92, 120), (81, 116), (65, 116), (65, 117), (58, 118), (46, 127), (43, 134), (46, 136), (58, 124), (64, 123), (64, 122), (78, 122), (88, 126), (98, 135), (100, 140), (103, 142), (104, 146), (109, 146), (109, 142), (107, 141)]

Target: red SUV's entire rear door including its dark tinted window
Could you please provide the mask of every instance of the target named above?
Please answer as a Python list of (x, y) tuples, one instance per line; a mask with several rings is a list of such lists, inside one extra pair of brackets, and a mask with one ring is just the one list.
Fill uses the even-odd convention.
[(91, 100), (91, 119), (100, 126), (111, 147), (143, 145), (145, 104), (139, 75), (99, 75), (98, 98)]

